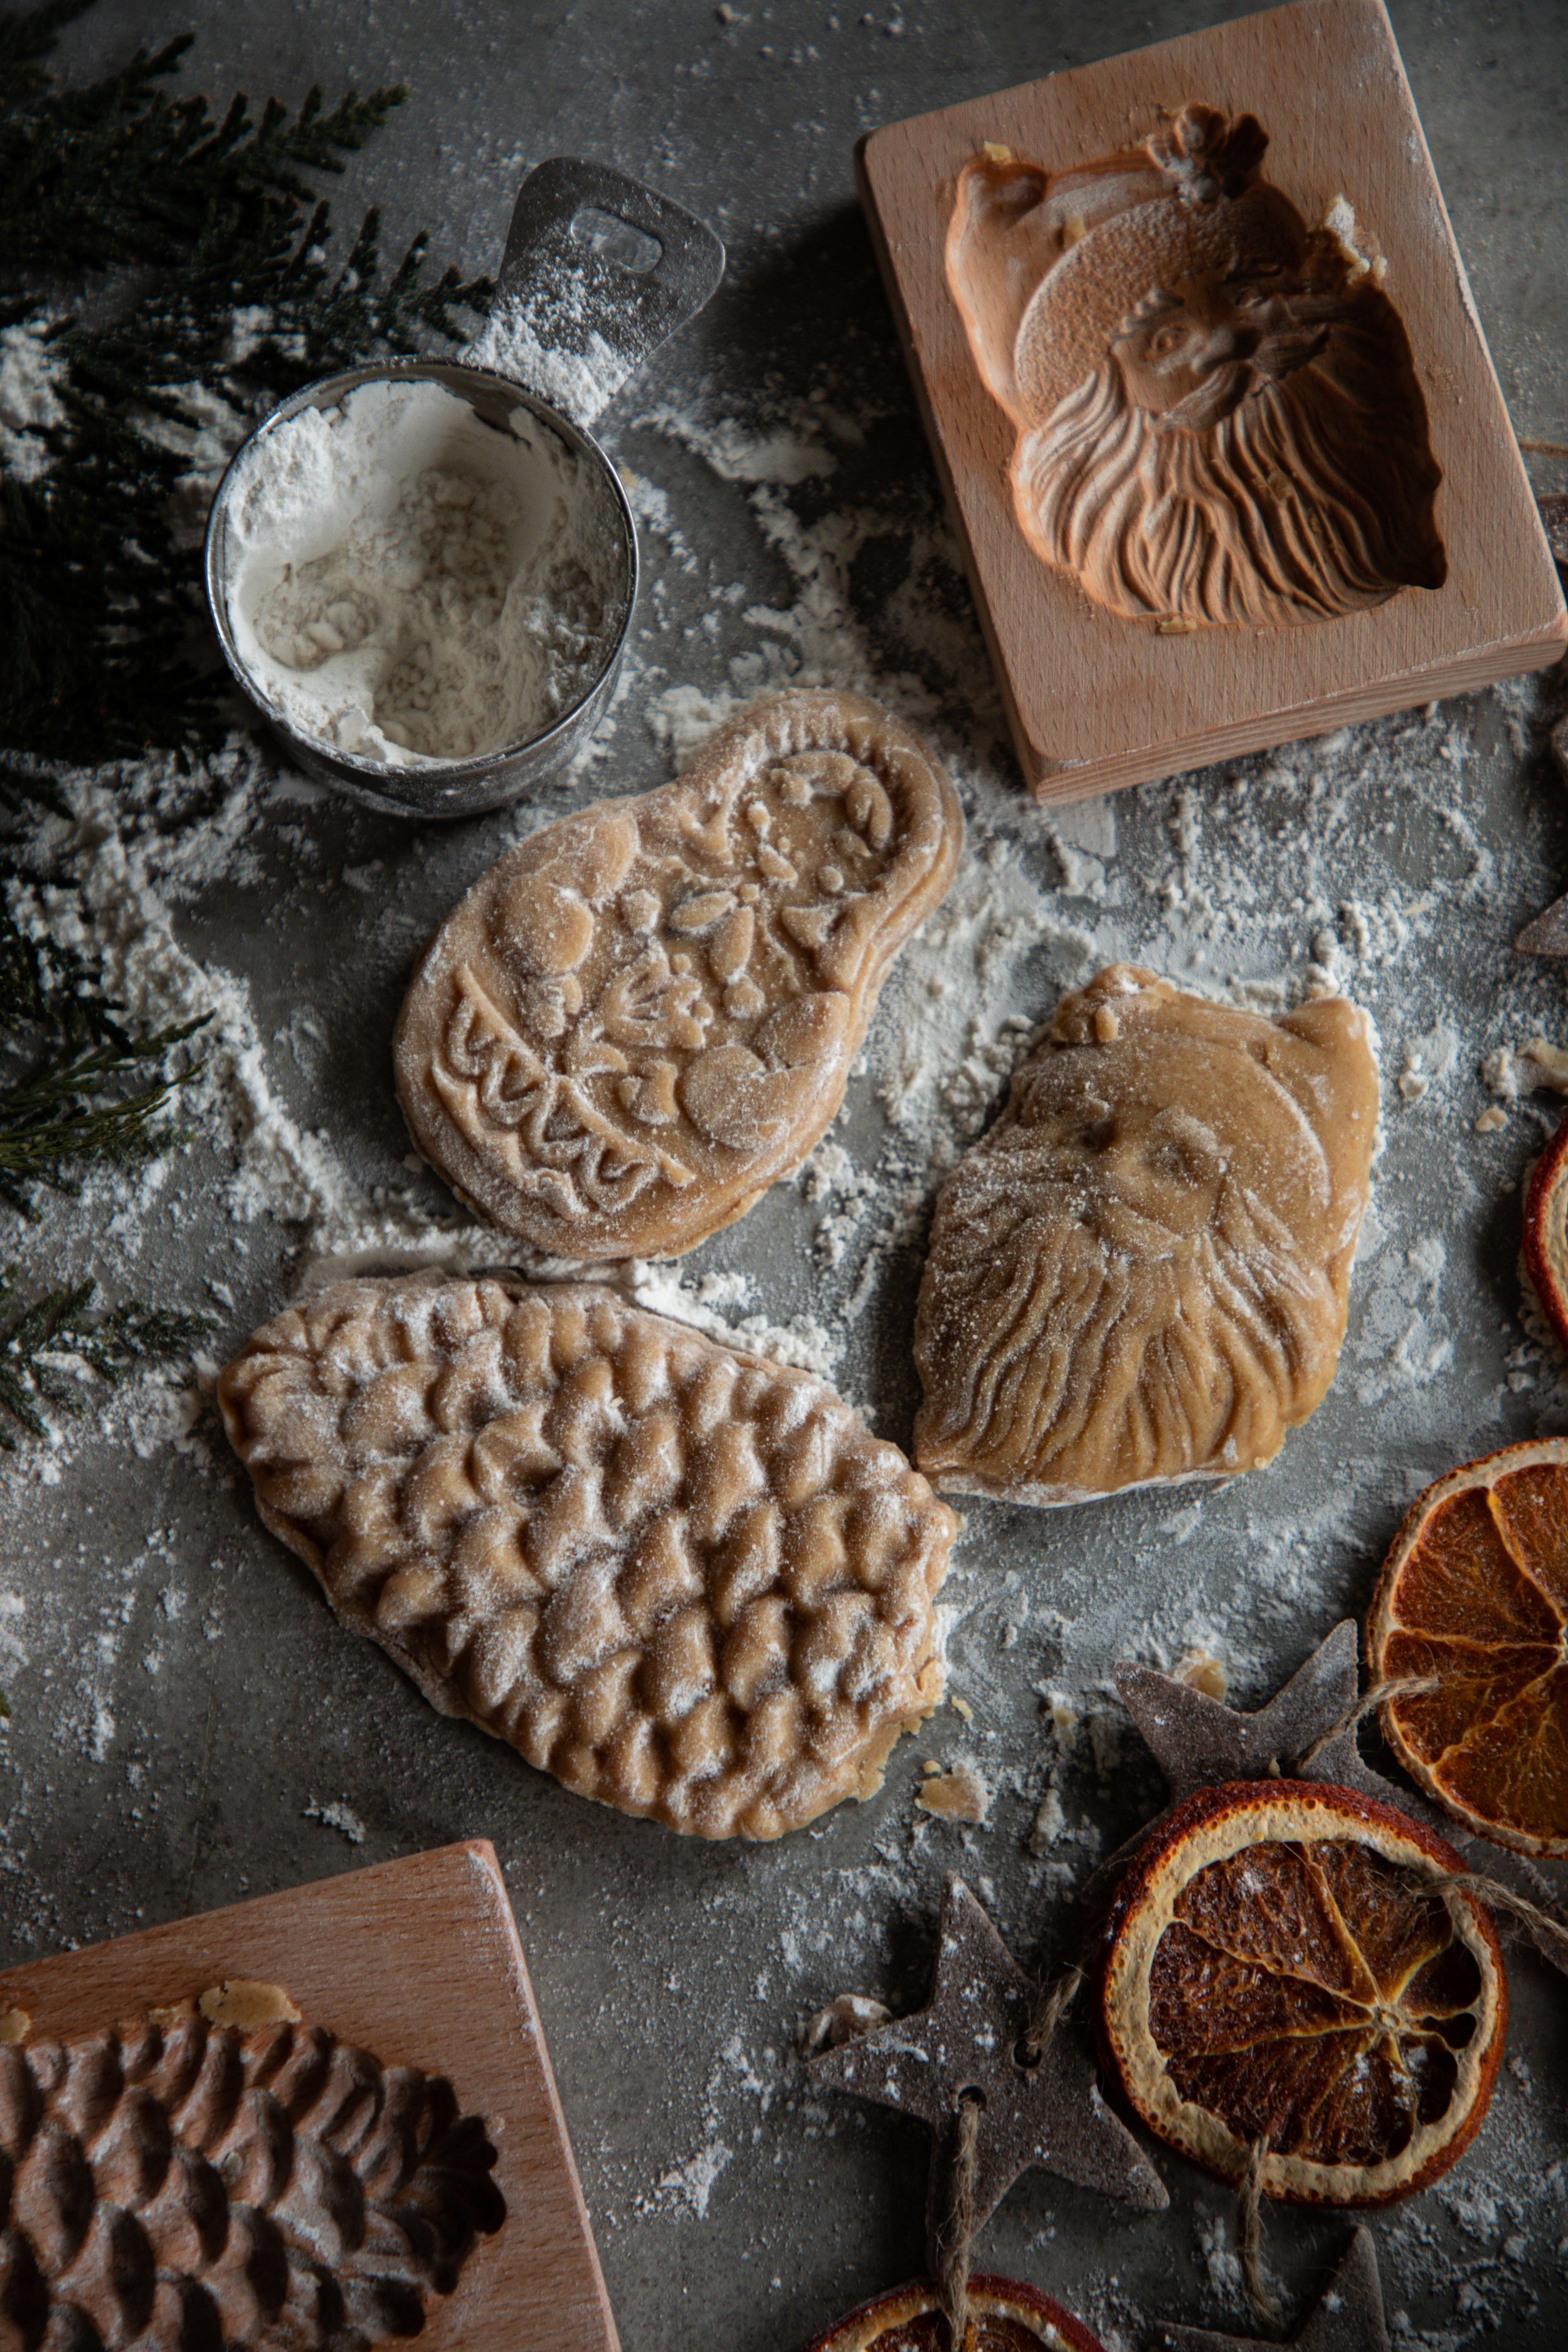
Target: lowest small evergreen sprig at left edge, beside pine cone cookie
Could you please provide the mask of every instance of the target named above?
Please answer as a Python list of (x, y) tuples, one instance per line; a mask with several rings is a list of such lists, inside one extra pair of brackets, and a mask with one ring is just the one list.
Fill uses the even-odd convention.
[[(21, 1287), (16, 1265), (0, 1268), (0, 1317)], [(139, 1298), (94, 1315), (96, 1282), (61, 1284), (21, 1308), (0, 1329), (0, 1414), (31, 1437), (47, 1437), (42, 1406), (85, 1414), (99, 1388), (120, 1388), (132, 1374), (167, 1364), (207, 1336), (205, 1315), (148, 1308)], [(16, 1435), (0, 1421), (0, 1449), (16, 1451)]]

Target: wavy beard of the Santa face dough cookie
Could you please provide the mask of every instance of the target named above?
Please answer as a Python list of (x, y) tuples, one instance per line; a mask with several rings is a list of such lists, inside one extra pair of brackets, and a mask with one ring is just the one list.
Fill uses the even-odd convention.
[[(1192, 1129), (1171, 1131), (1166, 1112), (1150, 1148), (1204, 1160), (1213, 1138)], [(1081, 1155), (1048, 1136), (964, 1176), (940, 1279), (945, 1329), (966, 1345), (919, 1435), (938, 1486), (1067, 1498), (1095, 1491), (1086, 1479), (1105, 1463), (1128, 1486), (1173, 1463), (1227, 1477), (1267, 1461), (1316, 1402), (1333, 1282), (1246, 1185), (1192, 1167), (1164, 1197), (1107, 1192), (1067, 1221)], [(1187, 1183), (1206, 1195), (1197, 1221)]]

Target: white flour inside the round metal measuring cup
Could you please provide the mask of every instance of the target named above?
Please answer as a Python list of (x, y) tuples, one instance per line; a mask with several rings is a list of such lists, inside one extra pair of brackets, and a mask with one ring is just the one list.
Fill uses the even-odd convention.
[(597, 468), (527, 409), (503, 430), (442, 383), (362, 383), (242, 454), (228, 623), (299, 734), (388, 767), (470, 760), (595, 687), (621, 546)]

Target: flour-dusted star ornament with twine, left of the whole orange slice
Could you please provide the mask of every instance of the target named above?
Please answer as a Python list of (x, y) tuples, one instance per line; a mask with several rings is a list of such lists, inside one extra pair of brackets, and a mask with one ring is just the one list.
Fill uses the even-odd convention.
[(1063, 2023), (1039, 2056), (1025, 2049), (1037, 2002), (1039, 1987), (969, 1886), (950, 1877), (926, 2006), (806, 2060), (813, 2086), (853, 2091), (929, 2126), (929, 2239), (947, 2206), (954, 2119), (964, 2096), (976, 2093), (976, 2232), (1030, 2166), (1103, 2197), (1121, 2197), (1140, 2213), (1157, 2213), (1171, 2201), (1131, 2131), (1100, 2098), (1086, 2037)]

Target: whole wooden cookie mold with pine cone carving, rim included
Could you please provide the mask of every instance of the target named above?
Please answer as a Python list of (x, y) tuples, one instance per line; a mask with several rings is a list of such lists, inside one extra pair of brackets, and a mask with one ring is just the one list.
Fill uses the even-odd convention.
[(9, 1969), (0, 2138), (7, 2340), (618, 2352), (487, 1842)]

